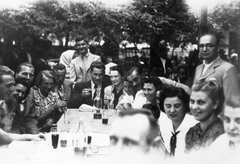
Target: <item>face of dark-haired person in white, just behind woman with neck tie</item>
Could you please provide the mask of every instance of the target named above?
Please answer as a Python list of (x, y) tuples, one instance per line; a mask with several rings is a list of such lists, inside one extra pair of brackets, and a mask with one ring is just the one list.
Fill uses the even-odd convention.
[(153, 102), (156, 100), (156, 88), (154, 87), (153, 84), (150, 83), (145, 83), (143, 85), (143, 93), (145, 97), (147, 98), (148, 102)]

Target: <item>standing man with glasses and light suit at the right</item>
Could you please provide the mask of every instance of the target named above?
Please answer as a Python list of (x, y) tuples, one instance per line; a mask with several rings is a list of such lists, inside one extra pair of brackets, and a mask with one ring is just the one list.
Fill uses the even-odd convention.
[(223, 88), (225, 101), (240, 95), (237, 69), (218, 56), (220, 39), (218, 34), (210, 32), (199, 40), (199, 56), (203, 64), (196, 68), (193, 84), (198, 81), (214, 81)]

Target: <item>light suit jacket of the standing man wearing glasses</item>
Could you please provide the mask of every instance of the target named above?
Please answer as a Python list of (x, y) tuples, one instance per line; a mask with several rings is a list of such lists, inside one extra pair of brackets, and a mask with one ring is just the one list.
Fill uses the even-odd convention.
[(240, 86), (236, 67), (218, 58), (202, 75), (203, 66), (204, 65), (201, 64), (196, 68), (193, 84), (199, 80), (214, 81), (223, 88), (225, 100), (240, 96)]

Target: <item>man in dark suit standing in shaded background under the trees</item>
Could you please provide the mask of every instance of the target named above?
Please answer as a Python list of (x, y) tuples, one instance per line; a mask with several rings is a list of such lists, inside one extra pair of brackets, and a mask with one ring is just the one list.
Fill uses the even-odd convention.
[(167, 57), (168, 48), (164, 40), (160, 41), (158, 44), (158, 56), (151, 59), (149, 71), (151, 72), (153, 68), (158, 68), (162, 72), (163, 77), (168, 77), (172, 71), (172, 62)]

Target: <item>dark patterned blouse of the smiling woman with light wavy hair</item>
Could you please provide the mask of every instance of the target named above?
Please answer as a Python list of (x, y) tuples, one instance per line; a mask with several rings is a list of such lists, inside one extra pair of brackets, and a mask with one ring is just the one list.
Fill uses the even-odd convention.
[(205, 132), (202, 131), (200, 123), (197, 123), (194, 127), (190, 128), (186, 134), (185, 152), (188, 153), (191, 150), (199, 150), (200, 148), (208, 147), (223, 133), (224, 128), (220, 118), (217, 118), (210, 124)]

